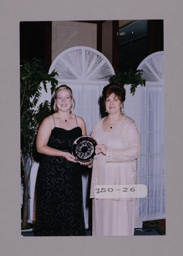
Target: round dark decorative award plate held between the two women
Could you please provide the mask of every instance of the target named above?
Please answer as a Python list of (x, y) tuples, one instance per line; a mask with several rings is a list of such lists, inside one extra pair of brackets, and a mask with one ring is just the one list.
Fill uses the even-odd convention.
[(74, 141), (72, 146), (72, 155), (76, 157), (77, 162), (88, 163), (96, 157), (95, 146), (97, 142), (91, 136), (82, 136)]

